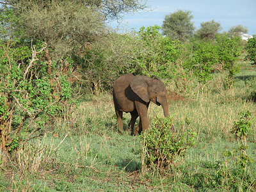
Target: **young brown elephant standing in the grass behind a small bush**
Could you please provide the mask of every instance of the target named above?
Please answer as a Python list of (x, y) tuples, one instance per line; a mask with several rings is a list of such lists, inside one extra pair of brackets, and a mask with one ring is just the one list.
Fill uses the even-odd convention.
[[(164, 83), (147, 76), (125, 74), (118, 77), (113, 84), (113, 100), (117, 117), (118, 131), (124, 130), (123, 112), (131, 113), (129, 128), (132, 134), (138, 135), (148, 130), (147, 111), (150, 101), (163, 107), (164, 116), (169, 116), (168, 101)], [(140, 116), (139, 125), (134, 129), (136, 119)]]

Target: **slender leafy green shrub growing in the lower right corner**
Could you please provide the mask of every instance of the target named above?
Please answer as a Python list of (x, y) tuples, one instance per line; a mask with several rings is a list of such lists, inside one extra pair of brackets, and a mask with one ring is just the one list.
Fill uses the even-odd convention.
[[(217, 176), (221, 185), (225, 184), (232, 186), (237, 191), (245, 191), (248, 190), (250, 185), (255, 184), (249, 171), (250, 163), (253, 162), (253, 159), (246, 154), (246, 149), (249, 147), (246, 138), (250, 133), (253, 119), (250, 111), (240, 114), (240, 120), (234, 122), (231, 131), (236, 136), (239, 147), (234, 148), (234, 150), (225, 150), (223, 152), (225, 161), (218, 161), (216, 168), (218, 168)], [(230, 161), (235, 161), (236, 163), (236, 167), (233, 170), (228, 168)]]

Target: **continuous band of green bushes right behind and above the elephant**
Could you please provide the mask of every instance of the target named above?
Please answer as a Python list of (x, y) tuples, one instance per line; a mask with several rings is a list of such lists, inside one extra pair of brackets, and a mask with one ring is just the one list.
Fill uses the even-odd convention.
[(131, 72), (174, 81), (177, 91), (184, 91), (186, 82), (195, 79), (204, 84), (216, 68), (228, 71), (226, 84), (230, 87), (239, 71), (236, 61), (243, 49), (238, 36), (218, 34), (214, 40), (191, 38), (180, 42), (161, 35), (159, 26), (109, 35), (105, 43), (94, 44), (86, 51), (82, 67), (87, 79), (104, 90), (111, 89), (116, 77)]

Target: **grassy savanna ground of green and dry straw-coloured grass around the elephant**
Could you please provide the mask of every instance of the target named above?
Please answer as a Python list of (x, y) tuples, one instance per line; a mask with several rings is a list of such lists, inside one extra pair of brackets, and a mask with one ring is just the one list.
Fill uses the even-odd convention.
[[(236, 162), (230, 158), (225, 168), (220, 162), (228, 158), (223, 151), (238, 146), (230, 130), (241, 111), (250, 111), (254, 118), (246, 150), (254, 161), (248, 163), (251, 181), (246, 191), (255, 190), (256, 68), (240, 62), (241, 72), (230, 90), (223, 71), (199, 94), (196, 85), (179, 95), (172, 93), (172, 84), (167, 86), (175, 129), (189, 119), (189, 128), (196, 132), (195, 146), (188, 148), (172, 175), (141, 174), (140, 138), (130, 131), (118, 134), (111, 94), (102, 93), (83, 95), (69, 120), (45, 127), (40, 138), (12, 157), (0, 154), (0, 191), (232, 191), (228, 179), (241, 184), (231, 174)], [(149, 122), (156, 114), (163, 116), (163, 109), (150, 104)], [(124, 114), (125, 127), (129, 118)]]

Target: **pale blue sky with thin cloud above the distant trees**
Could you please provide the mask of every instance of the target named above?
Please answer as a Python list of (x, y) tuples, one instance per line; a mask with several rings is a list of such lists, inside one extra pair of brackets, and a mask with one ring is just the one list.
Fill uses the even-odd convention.
[(111, 22), (112, 28), (119, 26), (121, 32), (139, 31), (141, 26), (162, 26), (164, 16), (177, 10), (189, 10), (196, 29), (202, 22), (214, 20), (220, 22), (222, 30), (241, 24), (248, 28), (249, 35), (256, 35), (256, 0), (149, 0), (148, 12), (124, 15), (119, 25)]

